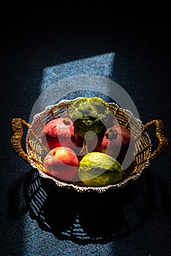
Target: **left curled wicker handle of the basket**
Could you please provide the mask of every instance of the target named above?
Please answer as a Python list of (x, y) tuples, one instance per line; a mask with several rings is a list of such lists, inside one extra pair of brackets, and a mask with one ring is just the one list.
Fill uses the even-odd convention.
[(26, 154), (23, 151), (23, 148), (21, 146), (20, 140), (23, 136), (23, 127), (22, 124), (25, 125), (27, 128), (29, 127), (29, 124), (26, 123), (21, 118), (13, 118), (12, 119), (12, 138), (11, 138), (11, 146), (12, 149), (15, 151), (16, 154), (18, 154), (19, 157), (23, 158), (26, 162), (29, 162), (28, 154)]

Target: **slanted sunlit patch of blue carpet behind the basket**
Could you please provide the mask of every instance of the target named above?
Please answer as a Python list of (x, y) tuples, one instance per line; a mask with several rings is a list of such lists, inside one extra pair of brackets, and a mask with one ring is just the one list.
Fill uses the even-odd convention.
[(40, 92), (58, 80), (75, 75), (101, 75), (105, 78), (111, 77), (114, 59), (115, 53), (112, 52), (46, 67), (42, 73)]

